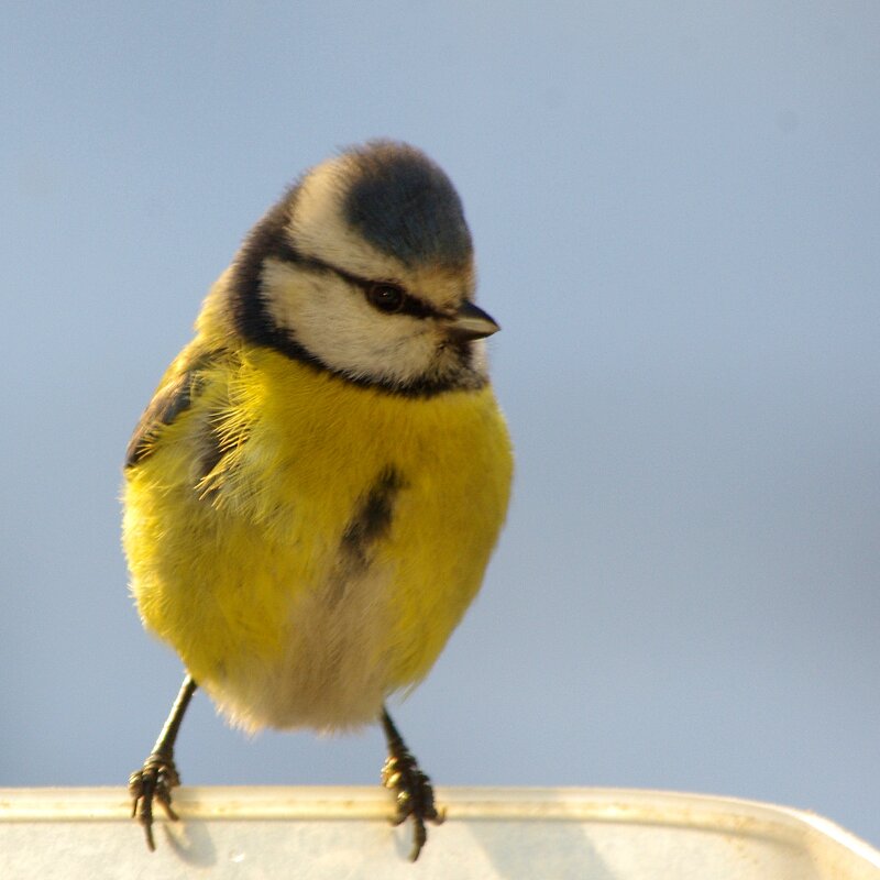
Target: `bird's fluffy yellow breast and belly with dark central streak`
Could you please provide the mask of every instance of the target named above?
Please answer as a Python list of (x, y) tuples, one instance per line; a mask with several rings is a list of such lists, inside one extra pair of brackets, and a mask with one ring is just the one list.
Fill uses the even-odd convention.
[(141, 614), (246, 726), (369, 721), (482, 581), (512, 475), (492, 391), (388, 395), (262, 349), (224, 370), (128, 473)]

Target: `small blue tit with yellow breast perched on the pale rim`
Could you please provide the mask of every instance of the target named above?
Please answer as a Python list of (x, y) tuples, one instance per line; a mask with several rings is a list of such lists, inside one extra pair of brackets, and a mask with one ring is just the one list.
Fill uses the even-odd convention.
[(394, 140), (305, 172), (209, 288), (123, 468), (122, 542), (147, 631), (185, 667), (131, 774), (178, 818), (174, 749), (197, 689), (245, 732), (380, 724), (410, 858), (442, 822), (387, 703), (428, 673), (504, 525), (513, 446), (488, 376), (447, 174)]

